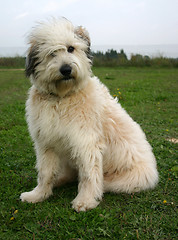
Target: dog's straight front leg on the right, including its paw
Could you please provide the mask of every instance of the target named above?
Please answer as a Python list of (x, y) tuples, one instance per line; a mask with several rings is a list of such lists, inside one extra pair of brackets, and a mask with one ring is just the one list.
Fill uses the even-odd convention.
[(78, 195), (72, 201), (72, 207), (77, 211), (95, 208), (103, 194), (102, 154), (98, 149), (77, 162), (79, 171)]

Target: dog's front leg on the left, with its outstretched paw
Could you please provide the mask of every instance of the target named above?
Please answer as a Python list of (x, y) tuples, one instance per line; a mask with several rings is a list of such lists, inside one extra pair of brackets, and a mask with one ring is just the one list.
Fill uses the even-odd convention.
[(59, 158), (53, 150), (37, 149), (38, 185), (30, 192), (21, 194), (20, 199), (24, 202), (41, 202), (52, 195), (58, 170)]

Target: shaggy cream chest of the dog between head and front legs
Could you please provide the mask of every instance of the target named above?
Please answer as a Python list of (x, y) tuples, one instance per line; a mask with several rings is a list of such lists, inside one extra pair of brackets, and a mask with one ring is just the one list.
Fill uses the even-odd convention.
[(91, 120), (78, 102), (52, 101), (30, 96), (27, 121), (34, 142), (60, 151), (72, 148)]

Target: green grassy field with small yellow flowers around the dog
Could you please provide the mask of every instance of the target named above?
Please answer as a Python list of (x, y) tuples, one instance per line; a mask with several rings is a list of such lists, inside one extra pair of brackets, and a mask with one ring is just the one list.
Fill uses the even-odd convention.
[(77, 183), (38, 204), (22, 203), (36, 186), (35, 154), (25, 122), (29, 80), (0, 71), (0, 239), (176, 239), (178, 69), (94, 68), (142, 126), (157, 158), (158, 186), (137, 194), (104, 194), (100, 205), (76, 213)]

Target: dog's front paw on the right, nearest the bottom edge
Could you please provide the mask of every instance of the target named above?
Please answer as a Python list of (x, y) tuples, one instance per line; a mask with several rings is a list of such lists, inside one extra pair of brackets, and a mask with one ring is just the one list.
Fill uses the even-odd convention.
[(95, 199), (80, 199), (76, 197), (72, 202), (72, 208), (77, 212), (85, 212), (98, 206), (99, 202)]

